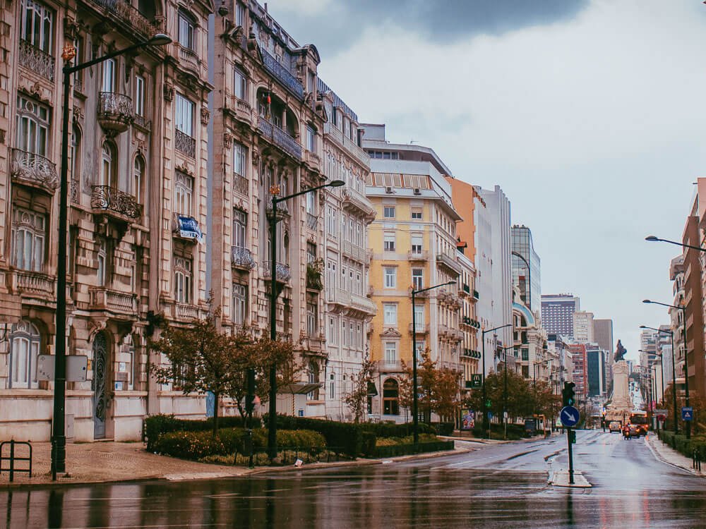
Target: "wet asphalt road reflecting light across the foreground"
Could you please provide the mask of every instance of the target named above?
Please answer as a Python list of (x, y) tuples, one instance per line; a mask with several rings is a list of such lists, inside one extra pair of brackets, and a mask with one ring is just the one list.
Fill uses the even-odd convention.
[(644, 439), (578, 432), (594, 485), (547, 485), (566, 437), (375, 466), (0, 492), (7, 528), (706, 528), (706, 480)]

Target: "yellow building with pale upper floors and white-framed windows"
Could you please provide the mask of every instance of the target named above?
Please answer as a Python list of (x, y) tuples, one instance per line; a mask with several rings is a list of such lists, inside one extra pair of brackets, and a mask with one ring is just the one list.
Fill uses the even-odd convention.
[[(458, 281), (463, 271), (456, 248), (460, 216), (451, 202), (450, 174), (433, 150), (385, 142), (382, 125), (365, 125), (363, 147), (371, 156), (366, 195), (376, 209), (369, 226), (372, 252), (369, 295), (377, 313), (369, 328), (378, 396), (369, 413), (384, 420), (409, 420), (399, 405), (402, 363), (412, 363), (412, 319), (417, 351), (429, 348), (438, 366), (461, 370), (465, 333), (460, 329)], [(412, 288), (421, 290), (412, 308)]]

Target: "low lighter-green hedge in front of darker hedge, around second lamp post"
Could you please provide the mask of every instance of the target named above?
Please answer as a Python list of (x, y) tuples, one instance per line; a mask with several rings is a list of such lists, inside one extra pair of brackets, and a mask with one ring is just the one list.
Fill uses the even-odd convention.
[[(199, 460), (209, 456), (229, 456), (236, 453), (247, 455), (245, 451), (245, 430), (242, 428), (222, 428), (214, 437), (210, 431), (168, 432), (154, 443), (157, 454), (182, 459)], [(268, 432), (263, 428), (253, 430), (253, 449), (267, 446)], [(318, 432), (310, 430), (277, 430), (277, 446), (297, 446), (303, 450), (325, 448), (325, 439)]]

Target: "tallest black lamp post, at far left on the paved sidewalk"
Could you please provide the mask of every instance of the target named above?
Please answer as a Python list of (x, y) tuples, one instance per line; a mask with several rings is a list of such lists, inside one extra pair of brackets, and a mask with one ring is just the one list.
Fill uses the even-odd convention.
[(56, 358), (54, 358), (54, 413), (52, 428), (52, 480), (56, 473), (66, 472), (66, 236), (68, 224), (68, 128), (71, 125), (68, 106), (71, 93), (71, 75), (78, 71), (102, 63), (116, 56), (135, 51), (146, 46), (164, 46), (172, 42), (169, 35), (157, 33), (151, 39), (132, 44), (124, 49), (112, 51), (85, 63), (71, 66), (76, 57), (73, 44), (66, 44), (61, 54), (64, 67), (61, 68), (64, 85), (64, 107), (61, 112), (61, 175), (59, 178), (59, 227), (56, 248)]

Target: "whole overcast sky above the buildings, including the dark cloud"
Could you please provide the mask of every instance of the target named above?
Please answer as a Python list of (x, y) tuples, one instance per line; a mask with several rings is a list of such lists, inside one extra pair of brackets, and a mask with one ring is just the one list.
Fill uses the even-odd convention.
[(706, 6), (698, 0), (270, 0), (361, 122), (432, 147), (512, 202), (542, 293), (640, 324), (671, 302), (693, 182), (706, 176)]

